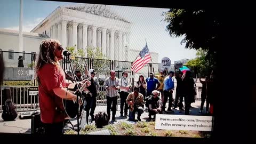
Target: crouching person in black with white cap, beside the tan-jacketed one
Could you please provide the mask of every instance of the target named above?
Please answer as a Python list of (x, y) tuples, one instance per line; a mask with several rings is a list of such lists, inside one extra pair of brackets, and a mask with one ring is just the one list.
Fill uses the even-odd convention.
[(162, 102), (159, 99), (159, 91), (154, 90), (152, 92), (152, 95), (150, 98), (147, 100), (147, 107), (148, 107), (148, 112), (149, 112), (149, 120), (152, 120), (152, 115), (154, 116), (154, 119), (156, 118), (156, 114), (162, 114)]

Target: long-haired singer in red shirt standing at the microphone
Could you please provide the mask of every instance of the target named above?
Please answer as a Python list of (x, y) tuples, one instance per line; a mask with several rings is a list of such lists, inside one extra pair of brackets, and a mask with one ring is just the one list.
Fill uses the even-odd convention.
[(39, 54), (35, 62), (41, 121), (45, 134), (50, 135), (63, 134), (64, 119), (67, 115), (62, 99), (74, 102), (78, 99), (79, 105), (82, 103), (80, 98), (65, 88), (71, 84), (71, 81), (66, 80), (65, 72), (59, 63), (64, 58), (62, 52), (63, 47), (59, 41), (45, 39), (39, 46)]

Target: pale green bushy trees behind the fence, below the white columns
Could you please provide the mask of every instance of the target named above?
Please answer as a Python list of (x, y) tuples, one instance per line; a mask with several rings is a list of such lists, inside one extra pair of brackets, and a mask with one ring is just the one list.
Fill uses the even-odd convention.
[(87, 57), (85, 55), (84, 49), (76, 50), (75, 47), (73, 46), (73, 47), (67, 47), (67, 50), (71, 53), (73, 57), (71, 61), (75, 70), (81, 70), (83, 72), (85, 68), (88, 68), (88, 65), (87, 65), (89, 63), (88, 59), (94, 59), (92, 68), (97, 72), (97, 74), (109, 73), (110, 61), (107, 61), (109, 58), (107, 58), (101, 52), (100, 47), (86, 47)]

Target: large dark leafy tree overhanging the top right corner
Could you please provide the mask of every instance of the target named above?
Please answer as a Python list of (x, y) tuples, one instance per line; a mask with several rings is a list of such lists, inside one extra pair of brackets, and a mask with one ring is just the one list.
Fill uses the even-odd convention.
[(202, 9), (170, 9), (163, 13), (171, 37), (185, 36), (186, 49), (207, 50), (206, 58), (215, 55), (220, 44), (220, 12)]

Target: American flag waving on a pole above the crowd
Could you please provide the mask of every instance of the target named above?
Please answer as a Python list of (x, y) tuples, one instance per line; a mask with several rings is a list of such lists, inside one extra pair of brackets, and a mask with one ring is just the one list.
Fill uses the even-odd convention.
[(149, 61), (151, 60), (150, 53), (148, 50), (148, 45), (140, 51), (138, 57), (135, 59), (135, 61), (132, 63), (131, 70), (134, 71), (134, 73), (137, 73), (140, 69), (142, 69)]

